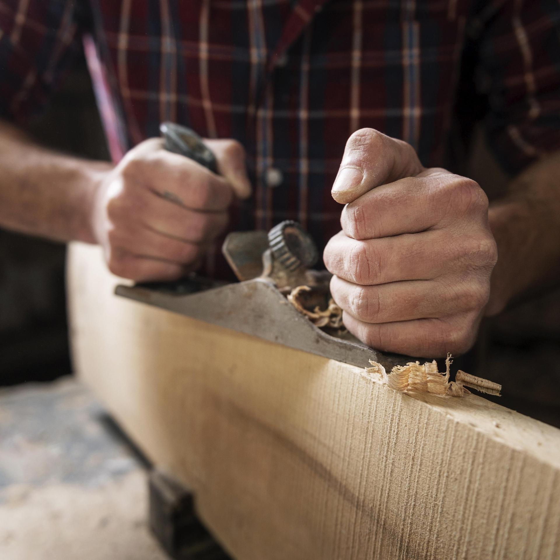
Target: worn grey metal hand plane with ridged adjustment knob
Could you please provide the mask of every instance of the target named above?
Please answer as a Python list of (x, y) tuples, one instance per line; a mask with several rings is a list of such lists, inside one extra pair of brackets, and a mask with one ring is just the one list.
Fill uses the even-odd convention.
[[(167, 149), (216, 169), (212, 153), (192, 130), (171, 123), (162, 124), (161, 130)], [(296, 222), (281, 222), (269, 232), (232, 232), (222, 253), (240, 282), (191, 275), (173, 283), (120, 285), (115, 293), (354, 366), (366, 367), (373, 360), (390, 370), (411, 359), (381, 354), (347, 332), (325, 332), (288, 301), (287, 293), (298, 286), (329, 293), (330, 274), (311, 269), (319, 252)]]

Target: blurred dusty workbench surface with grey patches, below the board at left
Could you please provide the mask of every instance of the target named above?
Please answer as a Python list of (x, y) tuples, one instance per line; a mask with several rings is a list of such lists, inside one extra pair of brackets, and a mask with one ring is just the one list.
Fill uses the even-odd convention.
[(166, 560), (146, 469), (83, 385), (0, 390), (0, 558)]

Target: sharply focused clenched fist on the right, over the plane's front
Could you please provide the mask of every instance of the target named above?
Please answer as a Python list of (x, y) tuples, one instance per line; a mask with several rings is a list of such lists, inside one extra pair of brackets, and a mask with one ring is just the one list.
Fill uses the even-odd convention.
[(324, 260), (348, 330), (387, 352), (468, 350), (497, 260), (480, 186), (366, 128), (348, 139), (332, 195), (346, 206)]

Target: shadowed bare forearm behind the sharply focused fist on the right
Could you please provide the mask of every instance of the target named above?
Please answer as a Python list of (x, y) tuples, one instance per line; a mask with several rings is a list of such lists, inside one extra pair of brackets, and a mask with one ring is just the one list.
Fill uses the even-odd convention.
[(560, 153), (517, 176), (489, 209), (498, 262), (487, 315), (560, 281)]

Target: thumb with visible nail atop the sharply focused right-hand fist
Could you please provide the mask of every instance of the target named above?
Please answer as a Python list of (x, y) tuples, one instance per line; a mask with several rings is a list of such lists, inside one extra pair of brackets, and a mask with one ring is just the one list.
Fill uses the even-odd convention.
[(346, 142), (331, 194), (337, 202), (348, 204), (376, 186), (413, 177), (423, 170), (410, 144), (362, 128)]

